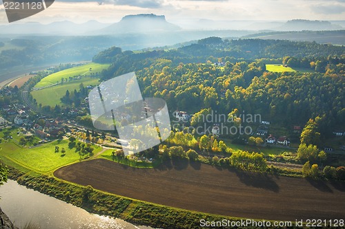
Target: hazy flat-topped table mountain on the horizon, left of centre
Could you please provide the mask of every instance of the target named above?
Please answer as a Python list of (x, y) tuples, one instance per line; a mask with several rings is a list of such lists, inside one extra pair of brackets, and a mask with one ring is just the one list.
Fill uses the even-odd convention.
[(134, 14), (126, 15), (121, 21), (100, 30), (106, 34), (172, 32), (181, 30), (179, 26), (166, 21), (164, 15)]

